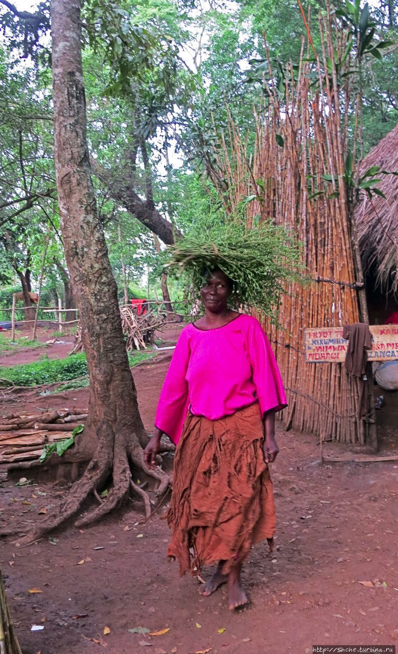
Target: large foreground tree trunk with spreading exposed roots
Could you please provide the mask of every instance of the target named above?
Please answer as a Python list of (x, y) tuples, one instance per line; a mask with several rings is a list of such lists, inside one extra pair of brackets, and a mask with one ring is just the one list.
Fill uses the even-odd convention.
[[(144, 465), (146, 442), (137, 392), (122, 334), (116, 282), (97, 214), (86, 143), (86, 105), (82, 71), (80, 0), (52, 0), (54, 158), (65, 258), (80, 312), (90, 376), (88, 420), (76, 446), (76, 460), (90, 463), (66, 500), (42, 528), (40, 538), (75, 515), (90, 494), (110, 487), (105, 502), (80, 518), (86, 525), (118, 506), (130, 490), (150, 503), (132, 481), (130, 464), (144, 468), (167, 489), (169, 478)], [(74, 448), (75, 449), (75, 448)], [(65, 455), (64, 455), (65, 456)], [(65, 460), (68, 460), (67, 457)]]

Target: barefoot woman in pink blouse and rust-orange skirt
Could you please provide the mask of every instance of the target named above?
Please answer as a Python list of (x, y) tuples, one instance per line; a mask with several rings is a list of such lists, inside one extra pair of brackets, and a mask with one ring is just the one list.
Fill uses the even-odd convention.
[(201, 593), (226, 582), (231, 610), (248, 602), (240, 571), (253, 543), (267, 538), (272, 551), (268, 464), (278, 454), (275, 412), (286, 407), (269, 341), (256, 318), (228, 308), (232, 290), (220, 269), (206, 273), (205, 315), (182, 330), (145, 449), (153, 467), (161, 436), (178, 442), (167, 554), (178, 559), (181, 575), (217, 562)]

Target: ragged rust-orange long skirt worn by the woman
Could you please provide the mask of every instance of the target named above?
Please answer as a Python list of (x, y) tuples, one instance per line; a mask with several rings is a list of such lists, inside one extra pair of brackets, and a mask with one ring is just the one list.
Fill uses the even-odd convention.
[(263, 439), (257, 403), (217, 421), (188, 414), (167, 513), (173, 531), (167, 555), (178, 560), (181, 576), (219, 560), (226, 574), (254, 543), (273, 538), (274, 496)]

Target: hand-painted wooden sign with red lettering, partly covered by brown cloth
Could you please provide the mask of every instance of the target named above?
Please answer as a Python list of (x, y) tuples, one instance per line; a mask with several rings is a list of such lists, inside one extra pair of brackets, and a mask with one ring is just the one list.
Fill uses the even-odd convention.
[[(398, 359), (398, 325), (369, 325), (372, 349), (369, 361)], [(343, 363), (348, 340), (342, 337), (342, 327), (319, 327), (304, 330), (305, 360), (308, 363)]]

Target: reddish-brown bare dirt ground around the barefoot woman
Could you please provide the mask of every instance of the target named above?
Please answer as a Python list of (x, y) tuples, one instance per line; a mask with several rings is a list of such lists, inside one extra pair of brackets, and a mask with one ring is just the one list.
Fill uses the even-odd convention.
[[(148, 429), (170, 356), (159, 354), (134, 371)], [(19, 399), (11, 408), (0, 405), (0, 413), (85, 407), (88, 392), (43, 397), (27, 390)], [(388, 438), (395, 445), (397, 431), (390, 429)], [(23, 653), (307, 654), (312, 644), (397, 644), (398, 465), (322, 466), (313, 437), (280, 426), (278, 442), (271, 470), (277, 548), (273, 556), (264, 544), (252, 551), (244, 570), (248, 608), (231, 613), (225, 587), (203, 598), (197, 579), (180, 579), (165, 558), (163, 509), (142, 523), (131, 503), (98, 525), (69, 526), (29, 547), (2, 542), (1, 568)], [(3, 481), (2, 524), (29, 530), (67, 490), (50, 481), (29, 487)], [(33, 625), (44, 628), (32, 631)], [(169, 631), (129, 632), (137, 627)]]

